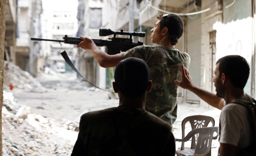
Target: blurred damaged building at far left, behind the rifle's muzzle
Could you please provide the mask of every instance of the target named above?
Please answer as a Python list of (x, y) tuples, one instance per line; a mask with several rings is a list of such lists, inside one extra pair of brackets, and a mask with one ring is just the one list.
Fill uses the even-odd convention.
[(41, 36), (41, 0), (7, 0), (5, 60), (36, 76), (40, 43), (30, 42), (31, 37)]

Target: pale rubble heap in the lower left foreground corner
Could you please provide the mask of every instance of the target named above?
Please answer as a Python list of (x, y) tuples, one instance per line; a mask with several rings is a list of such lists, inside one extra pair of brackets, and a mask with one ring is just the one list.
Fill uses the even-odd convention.
[(10, 92), (4, 91), (3, 96), (3, 156), (70, 156), (76, 131), (34, 114), (30, 107), (17, 103)]

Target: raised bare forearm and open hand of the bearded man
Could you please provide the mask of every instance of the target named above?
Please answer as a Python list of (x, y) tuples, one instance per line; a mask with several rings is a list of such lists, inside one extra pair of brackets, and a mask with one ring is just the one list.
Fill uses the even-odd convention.
[(175, 84), (177, 84), (181, 88), (192, 91), (197, 96), (199, 96), (199, 98), (207, 102), (209, 105), (216, 107), (218, 109), (222, 109), (222, 107), (224, 106), (223, 98), (219, 98), (215, 94), (195, 86), (192, 78), (189, 75), (188, 70), (185, 68), (184, 65), (181, 66), (181, 72), (182, 72), (181, 81), (175, 80), (174, 81)]

